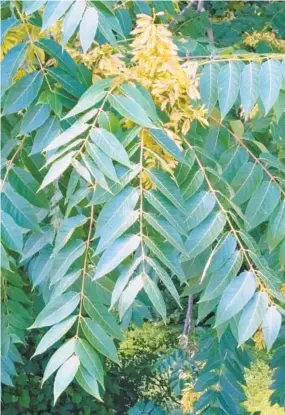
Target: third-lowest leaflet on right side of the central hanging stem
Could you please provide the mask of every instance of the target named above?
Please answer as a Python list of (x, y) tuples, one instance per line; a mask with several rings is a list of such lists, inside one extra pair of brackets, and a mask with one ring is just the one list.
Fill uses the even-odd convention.
[(171, 245), (165, 243), (162, 244), (161, 241), (158, 242), (146, 235), (144, 236), (144, 242), (151, 252), (153, 252), (154, 255), (159, 258), (159, 260), (163, 262), (167, 268), (177, 275), (182, 282), (185, 281), (184, 272), (181, 268), (180, 262), (178, 261), (177, 255), (173, 252), (174, 250)]

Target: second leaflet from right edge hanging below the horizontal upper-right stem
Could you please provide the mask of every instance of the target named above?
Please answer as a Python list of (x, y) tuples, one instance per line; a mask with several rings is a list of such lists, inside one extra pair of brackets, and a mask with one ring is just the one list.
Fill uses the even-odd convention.
[(259, 95), (260, 66), (250, 62), (243, 68), (240, 79), (240, 98), (244, 112), (248, 115), (256, 104)]

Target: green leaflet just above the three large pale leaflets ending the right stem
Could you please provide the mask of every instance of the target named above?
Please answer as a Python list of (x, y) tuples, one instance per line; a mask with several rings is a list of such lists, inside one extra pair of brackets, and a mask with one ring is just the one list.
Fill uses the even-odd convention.
[(225, 288), (229, 285), (230, 281), (237, 275), (242, 266), (242, 254), (240, 251), (236, 251), (229, 260), (219, 268), (215, 273), (209, 275), (209, 283), (200, 301), (213, 300), (219, 297)]

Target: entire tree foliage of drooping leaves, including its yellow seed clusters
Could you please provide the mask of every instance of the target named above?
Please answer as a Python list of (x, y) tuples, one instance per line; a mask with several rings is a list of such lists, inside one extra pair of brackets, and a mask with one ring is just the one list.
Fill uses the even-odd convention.
[[(74, 384), (100, 401), (126, 329), (166, 320), (167, 288), (207, 326), (196, 412), (244, 413), (238, 346), (257, 330), (284, 406), (284, 8), (213, 3), (2, 2), (5, 385), (27, 329), (48, 327), (54, 402)], [(276, 48), (252, 52), (242, 33), (263, 25)]]

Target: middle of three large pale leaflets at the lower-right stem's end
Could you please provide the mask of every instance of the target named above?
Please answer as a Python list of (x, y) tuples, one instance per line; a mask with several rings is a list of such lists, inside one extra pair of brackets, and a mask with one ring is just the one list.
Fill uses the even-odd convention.
[(260, 326), (268, 307), (268, 296), (265, 292), (254, 294), (242, 311), (239, 325), (239, 345), (250, 339)]

